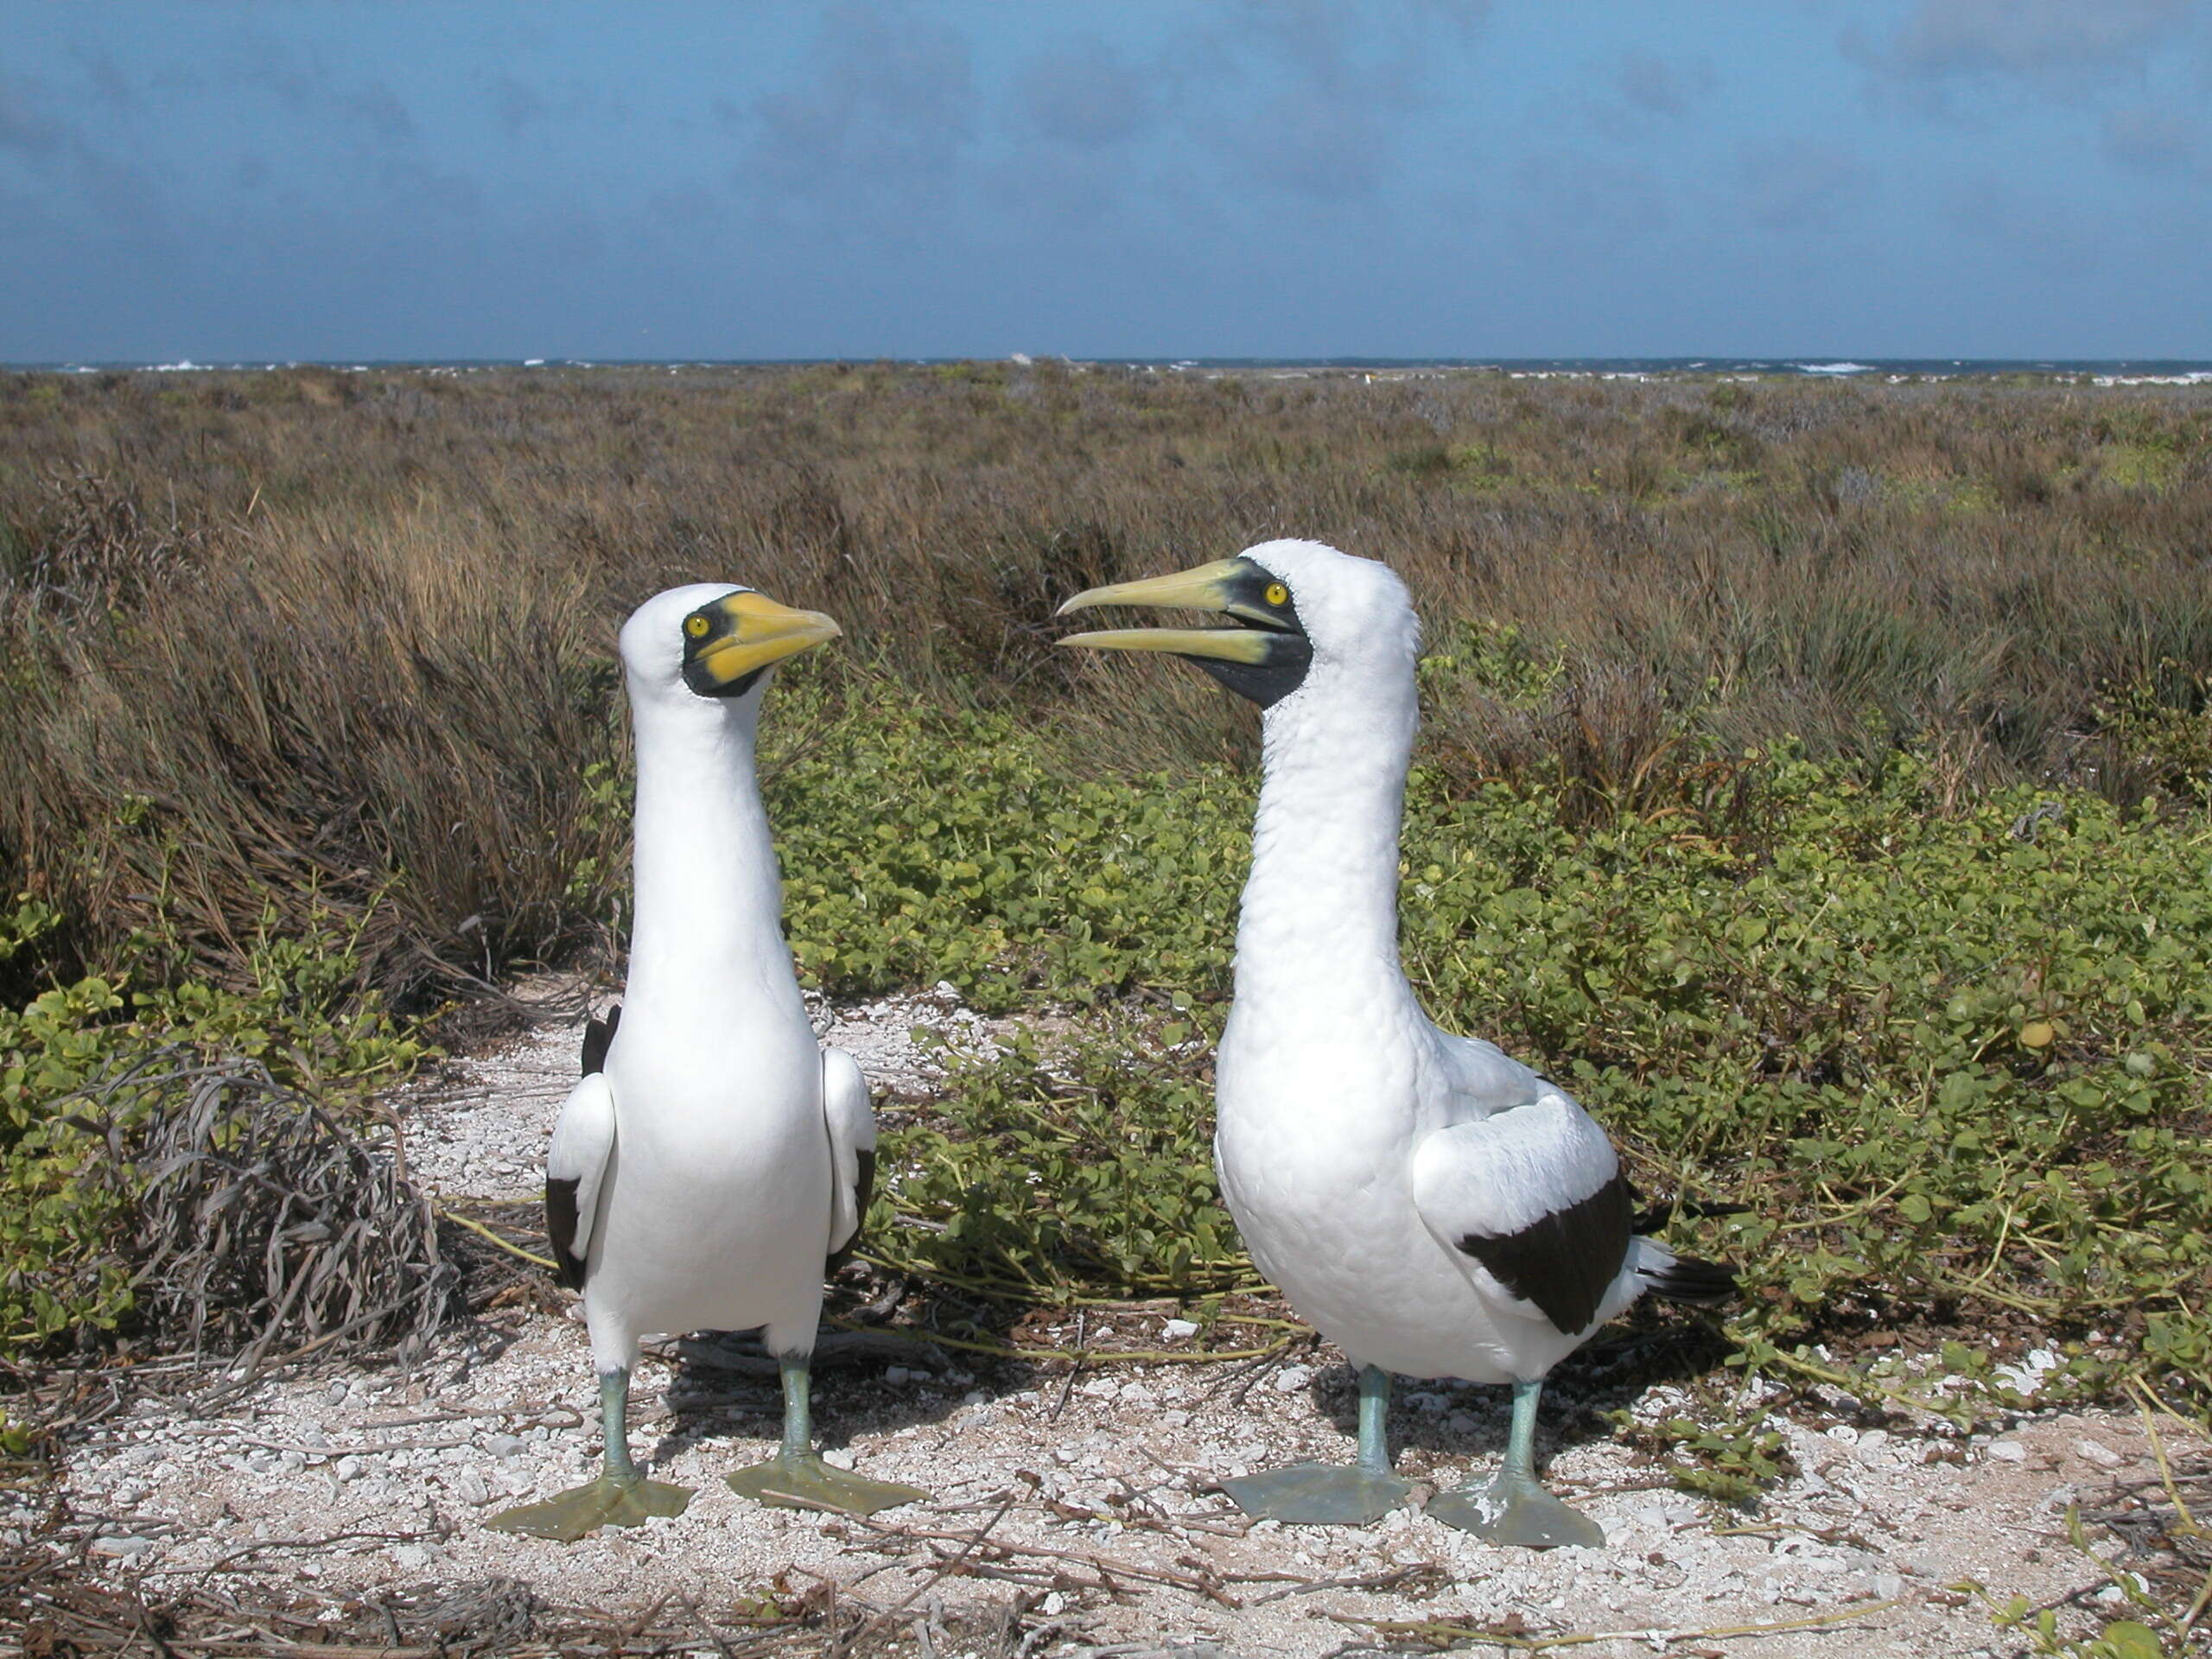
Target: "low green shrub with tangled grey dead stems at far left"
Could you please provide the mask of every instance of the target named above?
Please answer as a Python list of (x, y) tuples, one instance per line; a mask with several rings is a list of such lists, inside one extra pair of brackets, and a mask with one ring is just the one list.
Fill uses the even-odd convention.
[[(58, 925), (18, 902), (0, 958)], [(420, 1042), (354, 1000), (343, 938), (254, 962), (243, 993), (88, 975), (0, 1009), (0, 1354), (142, 1325), (166, 1349), (261, 1354), (436, 1323), (427, 1210), (338, 1115)]]

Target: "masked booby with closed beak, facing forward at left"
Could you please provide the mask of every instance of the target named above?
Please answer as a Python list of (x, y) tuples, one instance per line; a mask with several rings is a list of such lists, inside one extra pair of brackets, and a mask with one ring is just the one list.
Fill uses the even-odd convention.
[(823, 1267), (867, 1212), (867, 1079), (814, 1042), (754, 781), (761, 692), (783, 657), (834, 639), (814, 611), (697, 584), (622, 628), (637, 737), (635, 922), (619, 1022), (584, 1033), (584, 1079), (546, 1157), (546, 1228), (584, 1294), (604, 1473), (491, 1526), (575, 1540), (679, 1515), (690, 1493), (630, 1462), (628, 1391), (644, 1332), (763, 1327), (783, 1376), (783, 1447), (730, 1475), (748, 1498), (856, 1513), (925, 1493), (825, 1464), (807, 1360)]

